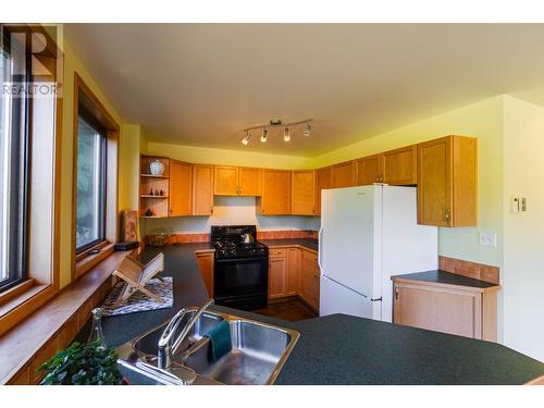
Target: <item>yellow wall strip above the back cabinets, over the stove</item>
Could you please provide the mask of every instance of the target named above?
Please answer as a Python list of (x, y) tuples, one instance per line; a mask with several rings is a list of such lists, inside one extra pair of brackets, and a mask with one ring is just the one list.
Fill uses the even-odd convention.
[(311, 159), (296, 157), (258, 153), (226, 149), (210, 149), (183, 145), (148, 143), (149, 154), (166, 156), (172, 159), (201, 164), (231, 164), (271, 169), (306, 169)]

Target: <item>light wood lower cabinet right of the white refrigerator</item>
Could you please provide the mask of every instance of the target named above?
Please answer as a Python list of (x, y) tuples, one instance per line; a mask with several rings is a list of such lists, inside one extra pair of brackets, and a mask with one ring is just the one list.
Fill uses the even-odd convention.
[(394, 282), (395, 324), (496, 342), (497, 288)]

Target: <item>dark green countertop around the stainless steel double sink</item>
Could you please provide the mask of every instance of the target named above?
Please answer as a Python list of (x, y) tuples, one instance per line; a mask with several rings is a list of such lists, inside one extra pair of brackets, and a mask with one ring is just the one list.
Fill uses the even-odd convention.
[[(104, 318), (108, 344), (119, 346), (182, 307), (203, 304), (206, 287), (194, 251), (207, 248), (208, 244), (146, 248), (143, 261), (164, 252), (164, 275), (175, 276), (174, 308)], [(345, 314), (285, 322), (213, 309), (300, 332), (276, 384), (522, 384), (544, 374), (544, 363), (490, 342)]]

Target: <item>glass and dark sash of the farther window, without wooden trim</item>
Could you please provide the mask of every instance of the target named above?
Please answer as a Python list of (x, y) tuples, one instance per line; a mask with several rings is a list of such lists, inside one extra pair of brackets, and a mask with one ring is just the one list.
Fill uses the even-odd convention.
[(106, 132), (79, 108), (77, 123), (76, 252), (106, 239)]

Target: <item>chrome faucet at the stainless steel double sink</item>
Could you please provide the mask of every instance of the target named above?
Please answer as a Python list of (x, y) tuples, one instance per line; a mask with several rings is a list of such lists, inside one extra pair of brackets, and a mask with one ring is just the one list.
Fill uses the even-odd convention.
[(173, 339), (174, 333), (180, 326), (185, 314), (187, 314), (187, 309), (184, 308), (180, 310), (177, 313), (175, 313), (175, 316), (166, 325), (166, 329), (164, 329), (164, 332), (162, 332), (161, 338), (159, 339), (157, 367), (159, 367), (160, 369), (166, 369), (170, 366), (172, 366), (172, 356), (174, 356), (177, 353), (177, 349), (182, 345), (185, 337), (187, 337), (187, 335), (189, 334), (190, 330), (196, 324), (200, 316), (211, 305), (213, 305), (213, 299), (208, 299), (206, 304), (200, 306), (200, 308), (195, 312), (195, 314), (193, 314), (190, 320), (185, 324), (185, 326), (182, 330), (182, 333), (180, 333), (177, 338)]

